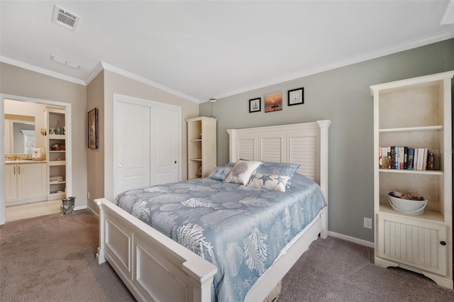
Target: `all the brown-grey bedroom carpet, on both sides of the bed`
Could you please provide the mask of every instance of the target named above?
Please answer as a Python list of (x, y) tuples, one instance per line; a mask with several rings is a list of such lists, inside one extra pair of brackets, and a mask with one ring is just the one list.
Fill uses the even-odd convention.
[[(0, 228), (1, 301), (135, 301), (109, 264), (98, 265), (98, 218), (88, 210)], [(454, 291), (373, 264), (373, 249), (316, 240), (282, 280), (279, 302), (454, 301)], [(177, 301), (175, 301), (177, 302)]]

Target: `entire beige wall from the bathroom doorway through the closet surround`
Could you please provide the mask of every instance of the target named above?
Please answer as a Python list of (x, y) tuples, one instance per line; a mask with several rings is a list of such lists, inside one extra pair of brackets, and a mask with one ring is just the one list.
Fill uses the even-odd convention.
[[(100, 72), (88, 86), (56, 79), (0, 63), (0, 93), (71, 104), (72, 195), (76, 206), (97, 212), (94, 199), (113, 199), (114, 94), (123, 94), (181, 107), (182, 179), (187, 179), (187, 118), (199, 116), (199, 104), (109, 71)], [(99, 109), (99, 147), (87, 148), (87, 111)], [(3, 117), (2, 117), (3, 118)], [(2, 121), (3, 123), (3, 121)], [(87, 198), (87, 192), (90, 198)]]

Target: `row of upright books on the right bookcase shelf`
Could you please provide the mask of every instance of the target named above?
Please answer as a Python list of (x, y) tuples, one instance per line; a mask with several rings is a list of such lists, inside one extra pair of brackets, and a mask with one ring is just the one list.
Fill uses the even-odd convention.
[[(378, 152), (380, 168), (382, 169), (408, 169), (408, 170), (434, 170), (435, 154), (428, 148), (416, 147), (380, 147)], [(384, 160), (383, 157), (389, 157)]]

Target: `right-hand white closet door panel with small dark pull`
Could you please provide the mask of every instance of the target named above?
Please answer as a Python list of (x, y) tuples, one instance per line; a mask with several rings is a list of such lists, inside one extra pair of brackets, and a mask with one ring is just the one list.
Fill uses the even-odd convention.
[(178, 181), (179, 134), (177, 111), (151, 108), (150, 184)]

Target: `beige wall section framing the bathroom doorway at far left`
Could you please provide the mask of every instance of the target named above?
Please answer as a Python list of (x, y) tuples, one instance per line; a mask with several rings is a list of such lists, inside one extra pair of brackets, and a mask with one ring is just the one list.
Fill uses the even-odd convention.
[[(76, 207), (86, 206), (87, 87), (0, 62), (0, 93), (71, 104), (72, 195), (76, 197)], [(3, 119), (1, 116), (1, 125)]]

